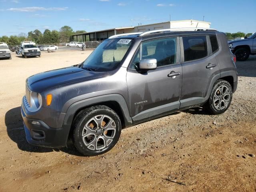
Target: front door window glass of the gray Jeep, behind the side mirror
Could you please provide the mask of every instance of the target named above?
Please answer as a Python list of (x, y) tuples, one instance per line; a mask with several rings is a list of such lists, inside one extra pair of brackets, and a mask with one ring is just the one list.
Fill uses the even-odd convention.
[(156, 59), (157, 66), (176, 63), (176, 37), (142, 43), (141, 59)]

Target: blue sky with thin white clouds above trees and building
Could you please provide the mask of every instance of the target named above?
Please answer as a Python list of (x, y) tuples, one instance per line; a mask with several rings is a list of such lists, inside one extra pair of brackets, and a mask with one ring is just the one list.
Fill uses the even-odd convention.
[(104, 30), (169, 20), (204, 20), (223, 32), (256, 32), (256, 0), (0, 0), (0, 36), (31, 30)]

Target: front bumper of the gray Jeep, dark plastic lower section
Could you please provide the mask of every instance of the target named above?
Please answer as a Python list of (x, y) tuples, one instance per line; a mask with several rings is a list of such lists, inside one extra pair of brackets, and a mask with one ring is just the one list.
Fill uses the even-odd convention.
[[(40, 110), (37, 112), (29, 112), (24, 104), (24, 98), (22, 99), (21, 115), (28, 143), (49, 148), (60, 148), (66, 146), (70, 127), (62, 126), (60, 128), (53, 128), (38, 118), (41, 116), (42, 119), (49, 120), (50, 116), (54, 115), (54, 113), (54, 111), (45, 113), (40, 112)], [(58, 121), (57, 118), (62, 117), (56, 116), (54, 118)], [(32, 124), (32, 122), (38, 123)]]

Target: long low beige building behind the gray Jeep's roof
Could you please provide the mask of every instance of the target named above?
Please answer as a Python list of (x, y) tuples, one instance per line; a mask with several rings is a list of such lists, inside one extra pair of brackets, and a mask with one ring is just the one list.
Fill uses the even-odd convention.
[(87, 41), (102, 41), (112, 35), (134, 32), (146, 32), (152, 30), (161, 30), (169, 28), (210, 28), (210, 22), (197, 21), (197, 20), (180, 20), (168, 21), (162, 23), (154, 23), (148, 25), (113, 28), (101, 31), (86, 32), (82, 34), (72, 35), (73, 41), (87, 42)]

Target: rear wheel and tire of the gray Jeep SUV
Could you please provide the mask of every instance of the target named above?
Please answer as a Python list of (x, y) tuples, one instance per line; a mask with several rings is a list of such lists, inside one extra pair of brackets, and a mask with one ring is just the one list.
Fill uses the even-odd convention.
[[(220, 89), (221, 87), (222, 87), (222, 91)], [(225, 95), (223, 93), (226, 93), (226, 96), (223, 96), (223, 95)], [(217, 94), (220, 94), (220, 95), (217, 95)], [(227, 99), (228, 94), (229, 94), (229, 99)], [(229, 84), (229, 82), (222, 80), (222, 79), (217, 80), (214, 83), (214, 86), (212, 88), (210, 98), (208, 99), (208, 102), (206, 103), (208, 111), (214, 115), (224, 113), (229, 108), (230, 103), (232, 102), (232, 94), (233, 94), (233, 90), (232, 90), (232, 87)], [(220, 96), (220, 99), (218, 99), (218, 96)], [(215, 100), (215, 102), (214, 102), (214, 100)], [(223, 104), (224, 104), (224, 106), (223, 106)]]

